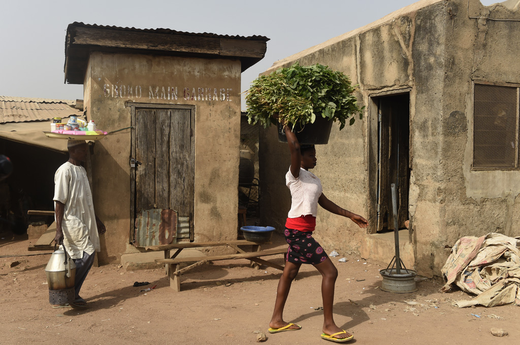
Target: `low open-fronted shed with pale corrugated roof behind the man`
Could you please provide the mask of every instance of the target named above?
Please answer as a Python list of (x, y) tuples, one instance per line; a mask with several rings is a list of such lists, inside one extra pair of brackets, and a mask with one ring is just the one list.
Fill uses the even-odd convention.
[(54, 210), (54, 173), (69, 159), (67, 141), (43, 132), (50, 131), (53, 118), (70, 116), (83, 116), (76, 100), (0, 96), (0, 154), (13, 164), (0, 181), (0, 232), (24, 234), (31, 224), (54, 221), (27, 211)]

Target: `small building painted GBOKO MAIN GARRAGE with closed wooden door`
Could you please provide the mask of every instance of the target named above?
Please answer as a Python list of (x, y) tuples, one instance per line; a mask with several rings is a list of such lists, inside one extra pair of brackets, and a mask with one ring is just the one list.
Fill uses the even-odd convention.
[(69, 25), (66, 82), (84, 85), (87, 120), (120, 130), (93, 150), (101, 263), (147, 245), (236, 239), (240, 76), (267, 41)]

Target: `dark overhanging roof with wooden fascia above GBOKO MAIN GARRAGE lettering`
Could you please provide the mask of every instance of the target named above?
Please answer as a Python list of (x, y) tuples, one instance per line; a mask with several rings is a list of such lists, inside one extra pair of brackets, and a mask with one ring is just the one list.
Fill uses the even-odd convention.
[(265, 36), (230, 36), (171, 29), (136, 29), (74, 22), (65, 38), (65, 81), (83, 84), (90, 53), (154, 54), (239, 60), (245, 71), (262, 60)]

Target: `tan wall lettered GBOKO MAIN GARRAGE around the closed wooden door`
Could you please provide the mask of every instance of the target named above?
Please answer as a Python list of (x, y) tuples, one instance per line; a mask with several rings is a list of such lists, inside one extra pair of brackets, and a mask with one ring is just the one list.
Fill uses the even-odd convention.
[[(85, 107), (88, 119), (93, 119), (100, 129), (129, 127), (128, 102), (196, 107), (196, 241), (237, 236), (239, 90), (238, 60), (98, 52), (90, 55)], [(95, 210), (107, 226), (99, 255), (103, 263), (116, 262), (121, 254), (135, 251), (129, 244), (130, 149), (130, 130), (124, 130), (99, 140), (94, 150)]]

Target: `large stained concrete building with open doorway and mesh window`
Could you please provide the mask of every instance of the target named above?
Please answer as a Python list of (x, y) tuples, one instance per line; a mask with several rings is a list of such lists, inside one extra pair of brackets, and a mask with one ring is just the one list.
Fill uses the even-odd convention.
[[(398, 186), (401, 256), (421, 275), (440, 274), (462, 236), (520, 235), (518, 102), (520, 2), (422, 0), (280, 61), (265, 73), (322, 63), (359, 84), (362, 121), (317, 147), (324, 194), (365, 215), (368, 231), (318, 212), (327, 249), (389, 263), (391, 193)], [(263, 221), (282, 228), (287, 144), (261, 132)], [(280, 163), (282, 162), (282, 163)]]

